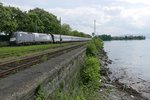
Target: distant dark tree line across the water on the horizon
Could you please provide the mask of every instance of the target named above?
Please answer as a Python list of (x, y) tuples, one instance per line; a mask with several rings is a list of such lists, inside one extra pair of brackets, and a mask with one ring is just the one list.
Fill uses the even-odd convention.
[(111, 35), (99, 35), (98, 38), (102, 39), (103, 41), (110, 41), (110, 40), (144, 40), (145, 36), (139, 35), (139, 36), (111, 36)]

